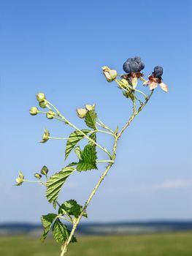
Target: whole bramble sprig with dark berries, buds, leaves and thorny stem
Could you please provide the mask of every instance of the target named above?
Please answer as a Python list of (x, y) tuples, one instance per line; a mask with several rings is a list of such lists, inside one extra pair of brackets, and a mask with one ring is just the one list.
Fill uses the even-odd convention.
[[(19, 176), (16, 178), (17, 186), (20, 186), (23, 182), (34, 182), (45, 186), (47, 201), (53, 204), (54, 212), (42, 215), (41, 217), (42, 226), (44, 227), (41, 239), (44, 241), (47, 234), (52, 231), (55, 241), (61, 243), (61, 256), (66, 254), (70, 243), (77, 241), (74, 232), (80, 219), (82, 219), (82, 217), (88, 217), (86, 210), (89, 203), (91, 203), (93, 195), (96, 193), (97, 189), (99, 189), (101, 182), (104, 180), (105, 176), (107, 176), (112, 165), (115, 164), (116, 149), (121, 135), (125, 129), (130, 126), (131, 122), (134, 121), (134, 118), (145, 108), (145, 105), (147, 105), (147, 102), (153, 95), (154, 89), (158, 85), (164, 91), (168, 91), (168, 87), (162, 81), (162, 67), (156, 66), (151, 75), (149, 75), (148, 80), (145, 80), (141, 72), (144, 68), (145, 64), (139, 56), (126, 60), (123, 64), (123, 70), (126, 73), (123, 75), (118, 75), (118, 72), (115, 69), (110, 69), (110, 67), (102, 67), (102, 72), (107, 82), (117, 83), (118, 88), (123, 92), (123, 96), (132, 104), (131, 116), (120, 129), (118, 127), (112, 129), (105, 124), (104, 121), (101, 121), (96, 113), (96, 105), (85, 105), (85, 108), (77, 108), (77, 116), (82, 118), (87, 126), (87, 129), (81, 129), (69, 121), (43, 93), (37, 94), (39, 107), (32, 107), (29, 110), (32, 116), (42, 114), (48, 119), (61, 121), (72, 128), (71, 134), (66, 138), (51, 137), (50, 131), (45, 129), (41, 143), (47, 143), (48, 140), (66, 140), (65, 160), (69, 157), (69, 154), (74, 151), (76, 154), (74, 162), (68, 163), (61, 171), (53, 173), (50, 176), (48, 176), (49, 170), (47, 166), (43, 166), (39, 173), (34, 173), (34, 178), (36, 178), (34, 181), (26, 180), (22, 172), (19, 172)], [(139, 80), (142, 81), (143, 85), (149, 87), (150, 93), (148, 95), (138, 89)], [(96, 138), (100, 133), (111, 136), (113, 140), (111, 149), (107, 149), (97, 142)], [(87, 141), (84, 148), (81, 147), (82, 140)], [(106, 159), (98, 159), (98, 148), (104, 151)], [(64, 187), (66, 180), (70, 178), (74, 172), (97, 170), (101, 162), (106, 162), (107, 167), (83, 206), (74, 199), (58, 202), (58, 195), (61, 189)], [(71, 229), (67, 227), (67, 223), (70, 223), (69, 226), (72, 226)]]

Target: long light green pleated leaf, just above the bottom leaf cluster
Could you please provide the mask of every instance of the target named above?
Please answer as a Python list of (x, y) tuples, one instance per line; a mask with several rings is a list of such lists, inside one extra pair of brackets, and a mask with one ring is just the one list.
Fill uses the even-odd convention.
[(74, 172), (73, 167), (65, 167), (59, 173), (53, 174), (47, 180), (47, 192), (46, 197), (47, 200), (52, 203), (58, 198), (58, 193), (61, 190), (61, 187), (64, 185), (66, 178), (69, 177)]

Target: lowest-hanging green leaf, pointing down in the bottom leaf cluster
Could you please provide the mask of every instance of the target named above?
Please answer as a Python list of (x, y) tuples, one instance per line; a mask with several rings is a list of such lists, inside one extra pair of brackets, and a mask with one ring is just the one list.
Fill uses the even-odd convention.
[[(53, 224), (53, 238), (57, 242), (64, 242), (69, 238), (70, 230), (67, 229), (60, 219), (56, 219)], [(77, 239), (72, 236), (72, 243), (77, 242)]]

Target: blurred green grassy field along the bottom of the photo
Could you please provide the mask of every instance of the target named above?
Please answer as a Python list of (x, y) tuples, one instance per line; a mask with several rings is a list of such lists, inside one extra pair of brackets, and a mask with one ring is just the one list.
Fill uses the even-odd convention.
[[(191, 256), (192, 233), (78, 238), (67, 256)], [(59, 256), (59, 244), (28, 236), (0, 237), (1, 256)]]

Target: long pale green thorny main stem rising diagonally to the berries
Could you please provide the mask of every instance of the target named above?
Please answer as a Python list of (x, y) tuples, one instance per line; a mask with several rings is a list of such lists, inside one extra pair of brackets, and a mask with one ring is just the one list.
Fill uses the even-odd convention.
[(69, 245), (70, 241), (72, 240), (72, 236), (74, 235), (74, 231), (77, 228), (77, 225), (80, 222), (80, 219), (82, 218), (82, 215), (84, 214), (86, 208), (88, 207), (89, 203), (91, 202), (93, 195), (95, 195), (96, 190), (99, 188), (101, 182), (104, 180), (105, 176), (107, 176), (108, 171), (110, 170), (110, 168), (112, 167), (112, 165), (114, 164), (115, 161), (115, 157), (116, 157), (116, 149), (117, 149), (117, 145), (118, 145), (118, 140), (120, 138), (120, 136), (123, 134), (123, 132), (125, 131), (125, 129), (131, 124), (131, 122), (134, 120), (134, 118), (138, 115), (139, 112), (141, 112), (141, 110), (145, 107), (145, 105), (147, 104), (147, 102), (149, 101), (150, 97), (152, 96), (153, 91), (151, 91), (150, 95), (145, 99), (145, 102), (143, 103), (143, 105), (141, 107), (138, 108), (138, 110), (136, 110), (136, 105), (135, 102), (133, 102), (133, 113), (131, 115), (131, 117), (128, 119), (128, 121), (126, 122), (126, 124), (124, 125), (124, 127), (120, 130), (120, 132), (118, 133), (118, 135), (115, 135), (115, 141), (113, 144), (113, 148), (112, 148), (112, 161), (113, 162), (109, 162), (109, 164), (107, 165), (106, 169), (104, 170), (104, 173), (101, 175), (101, 177), (99, 178), (99, 181), (96, 184), (96, 187), (94, 187), (93, 191), (91, 192), (91, 194), (88, 197), (88, 200), (85, 202), (85, 205), (82, 208), (81, 214), (80, 216), (75, 220), (73, 227), (72, 227), (72, 231), (70, 233), (69, 238), (65, 241), (63, 247), (62, 247), (62, 252), (61, 252), (61, 256), (64, 256), (64, 254), (66, 254), (67, 252), (67, 246)]

